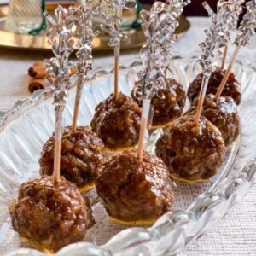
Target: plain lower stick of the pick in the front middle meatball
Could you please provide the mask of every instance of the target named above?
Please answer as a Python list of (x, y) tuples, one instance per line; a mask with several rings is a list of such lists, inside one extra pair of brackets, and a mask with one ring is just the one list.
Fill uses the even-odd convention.
[(142, 122), (141, 122), (141, 131), (139, 137), (139, 143), (137, 148), (137, 156), (139, 160), (143, 160), (143, 148), (144, 148), (144, 138), (148, 125), (148, 114), (150, 109), (150, 100), (143, 100), (143, 112), (142, 112)]

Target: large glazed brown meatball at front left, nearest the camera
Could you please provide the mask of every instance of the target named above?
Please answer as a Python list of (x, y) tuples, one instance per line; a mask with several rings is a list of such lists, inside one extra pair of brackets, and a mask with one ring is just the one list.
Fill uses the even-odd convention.
[(23, 183), (9, 212), (20, 236), (52, 251), (82, 241), (94, 224), (88, 201), (64, 177), (58, 183), (49, 176)]

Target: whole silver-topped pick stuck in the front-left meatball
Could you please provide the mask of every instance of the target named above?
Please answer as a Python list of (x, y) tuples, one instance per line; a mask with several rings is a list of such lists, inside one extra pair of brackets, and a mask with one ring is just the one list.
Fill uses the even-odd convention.
[(69, 88), (70, 67), (73, 63), (68, 61), (69, 55), (73, 52), (72, 22), (69, 19), (69, 10), (59, 6), (55, 9), (55, 16), (44, 12), (44, 16), (51, 26), (47, 32), (49, 44), (55, 55), (50, 60), (44, 60), (47, 70), (47, 77), (50, 89), (53, 91), (55, 103), (55, 158), (53, 178), (55, 182), (60, 179), (60, 156), (62, 137), (62, 114), (67, 103), (67, 90)]

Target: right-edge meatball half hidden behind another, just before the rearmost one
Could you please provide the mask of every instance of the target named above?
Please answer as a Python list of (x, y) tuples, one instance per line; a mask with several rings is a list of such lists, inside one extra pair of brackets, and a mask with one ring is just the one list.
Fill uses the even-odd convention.
[[(198, 100), (195, 99), (189, 113), (195, 113)], [(229, 96), (221, 96), (218, 100), (209, 94), (206, 96), (201, 114), (213, 125), (216, 125), (224, 138), (225, 146), (230, 146), (239, 135), (240, 118), (236, 103)]]

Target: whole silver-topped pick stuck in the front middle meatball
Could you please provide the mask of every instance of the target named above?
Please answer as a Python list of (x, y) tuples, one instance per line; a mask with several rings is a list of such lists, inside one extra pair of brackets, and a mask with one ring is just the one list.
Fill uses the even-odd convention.
[[(183, 1), (175, 2), (183, 3)], [(188, 3), (189, 1), (186, 1), (186, 4)], [(150, 100), (157, 90), (166, 88), (166, 70), (172, 58), (172, 44), (177, 39), (174, 32), (179, 24), (181, 9), (186, 4), (181, 4), (178, 9), (169, 9), (167, 3), (155, 2), (149, 14), (147, 11), (141, 12), (144, 22), (143, 32), (147, 41), (140, 53), (143, 71), (138, 73), (138, 76), (142, 87), (138, 87), (136, 92), (137, 96), (140, 95), (143, 98), (142, 125), (137, 150), (140, 160), (143, 157), (143, 140), (148, 124)]]

